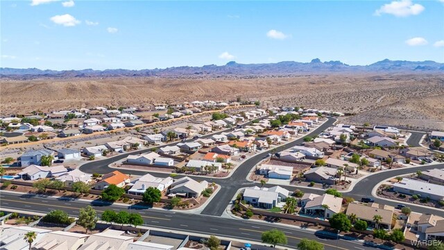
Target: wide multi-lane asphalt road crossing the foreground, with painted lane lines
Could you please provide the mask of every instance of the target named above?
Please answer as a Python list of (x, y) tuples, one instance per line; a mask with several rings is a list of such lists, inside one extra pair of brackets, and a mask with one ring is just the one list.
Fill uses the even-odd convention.
[[(87, 205), (92, 205), (97, 213), (101, 215), (104, 210), (126, 210), (128, 212), (139, 213), (143, 219), (145, 226), (153, 226), (155, 228), (166, 228), (170, 230), (187, 231), (190, 233), (202, 233), (205, 235), (223, 236), (238, 240), (252, 240), (261, 242), (262, 232), (278, 228), (287, 235), (288, 244), (283, 247), (296, 248), (299, 240), (302, 238), (309, 238), (317, 240), (325, 245), (325, 249), (369, 249), (359, 242), (352, 242), (347, 240), (330, 240), (325, 236), (314, 234), (311, 231), (298, 228), (289, 228), (280, 226), (278, 224), (263, 224), (249, 220), (226, 219), (222, 217), (213, 217), (206, 215), (189, 215), (185, 213), (173, 213), (169, 211), (159, 211), (146, 208), (138, 208), (128, 210), (121, 206), (103, 203), (88, 203), (87, 201), (76, 201), (67, 199), (53, 199), (49, 197), (33, 197), (28, 194), (10, 194), (0, 192), (1, 207), (3, 209), (17, 209), (26, 210), (37, 213), (48, 213), (50, 210), (60, 209), (65, 210), (71, 216), (78, 216), (79, 208), (84, 208)], [(225, 204), (223, 205), (225, 206)], [(319, 235), (320, 237), (318, 237)]]

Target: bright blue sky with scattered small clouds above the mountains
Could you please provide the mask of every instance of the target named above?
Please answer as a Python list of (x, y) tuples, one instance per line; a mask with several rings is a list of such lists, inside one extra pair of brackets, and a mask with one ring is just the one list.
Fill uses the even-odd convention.
[(444, 63), (444, 0), (3, 1), (1, 67)]

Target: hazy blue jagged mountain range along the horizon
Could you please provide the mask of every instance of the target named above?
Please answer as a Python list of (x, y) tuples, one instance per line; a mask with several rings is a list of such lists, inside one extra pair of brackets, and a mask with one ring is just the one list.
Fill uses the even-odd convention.
[(51, 69), (0, 68), (2, 78), (87, 78), (119, 76), (158, 76), (158, 77), (204, 77), (204, 76), (260, 76), (291, 75), (300, 73), (328, 72), (444, 72), (444, 63), (431, 60), (412, 62), (405, 60), (382, 60), (370, 65), (347, 65), (340, 61), (321, 62), (318, 58), (310, 63), (284, 61), (280, 63), (241, 64), (234, 61), (225, 65), (204, 65), (203, 67), (168, 67), (166, 69), (82, 69), (56, 71)]

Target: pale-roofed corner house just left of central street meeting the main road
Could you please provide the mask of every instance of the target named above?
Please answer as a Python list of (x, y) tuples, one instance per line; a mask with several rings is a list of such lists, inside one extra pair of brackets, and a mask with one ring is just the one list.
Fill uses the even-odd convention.
[(202, 181), (198, 183), (197, 181), (194, 181), (192, 178), (185, 176), (173, 182), (171, 184), (169, 192), (170, 194), (176, 194), (177, 196), (181, 197), (198, 198), (206, 188), (208, 188), (207, 181)]

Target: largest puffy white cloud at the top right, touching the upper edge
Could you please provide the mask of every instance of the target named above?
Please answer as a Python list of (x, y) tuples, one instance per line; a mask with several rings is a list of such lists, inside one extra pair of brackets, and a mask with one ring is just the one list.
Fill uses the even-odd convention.
[(400, 0), (384, 4), (375, 11), (375, 15), (390, 14), (395, 17), (408, 17), (409, 15), (419, 15), (424, 9), (424, 6), (419, 3), (413, 4), (411, 0)]

